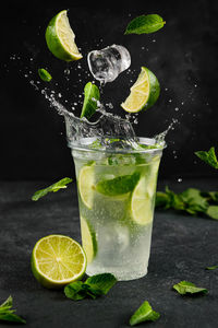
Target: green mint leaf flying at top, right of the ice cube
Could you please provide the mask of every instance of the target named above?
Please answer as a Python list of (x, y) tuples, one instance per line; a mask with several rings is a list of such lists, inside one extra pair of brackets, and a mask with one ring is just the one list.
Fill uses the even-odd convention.
[(148, 14), (135, 17), (128, 25), (124, 34), (148, 34), (160, 30), (166, 22), (157, 14)]

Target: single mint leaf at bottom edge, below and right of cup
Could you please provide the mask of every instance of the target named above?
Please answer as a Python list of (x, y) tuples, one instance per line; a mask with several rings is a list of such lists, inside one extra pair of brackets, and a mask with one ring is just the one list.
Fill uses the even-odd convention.
[(160, 314), (155, 312), (149, 303), (145, 301), (130, 318), (130, 325), (135, 326), (143, 321), (156, 321), (159, 317)]

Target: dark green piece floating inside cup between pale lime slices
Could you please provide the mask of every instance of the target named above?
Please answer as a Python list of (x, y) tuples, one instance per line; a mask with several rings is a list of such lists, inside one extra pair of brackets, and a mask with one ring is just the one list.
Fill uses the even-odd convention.
[(121, 175), (112, 179), (104, 179), (96, 185), (96, 190), (106, 196), (123, 195), (132, 191), (138, 179), (138, 172), (131, 175)]

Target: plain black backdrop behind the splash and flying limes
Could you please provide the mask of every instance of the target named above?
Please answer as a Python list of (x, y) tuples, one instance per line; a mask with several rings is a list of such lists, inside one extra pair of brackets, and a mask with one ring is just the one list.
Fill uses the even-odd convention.
[[(166, 130), (173, 118), (179, 120), (167, 136), (160, 178), (216, 177), (194, 151), (216, 147), (218, 139), (218, 2), (113, 3), (110, 1), (110, 9), (102, 2), (89, 2), (89, 7), (81, 7), (82, 1), (8, 3), (1, 15), (0, 179), (56, 180), (74, 175), (63, 118), (31, 81), (39, 80), (38, 68), (47, 68), (52, 84), (40, 82), (38, 86), (60, 92), (60, 101), (64, 104), (68, 99), (70, 109), (73, 103), (80, 103), (85, 83), (93, 81), (88, 77), (88, 51), (111, 44), (130, 50), (132, 71), (108, 83), (102, 101), (112, 102), (114, 112), (124, 116), (119, 104), (128, 96), (141, 66), (146, 66), (158, 77), (161, 94), (153, 108), (140, 114), (136, 134), (153, 137)], [(49, 52), (44, 36), (49, 20), (62, 9), (70, 9), (70, 23), (84, 56), (70, 65)], [(160, 14), (167, 21), (165, 27), (150, 35), (123, 34), (133, 17), (147, 13)], [(70, 69), (70, 75), (64, 74), (65, 69)], [(80, 110), (78, 104), (77, 115)]]

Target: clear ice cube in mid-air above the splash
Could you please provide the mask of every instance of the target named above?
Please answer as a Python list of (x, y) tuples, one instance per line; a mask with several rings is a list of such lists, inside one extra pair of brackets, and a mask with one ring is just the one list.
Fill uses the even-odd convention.
[(102, 83), (112, 82), (131, 65), (130, 52), (118, 45), (93, 50), (88, 54), (87, 60), (92, 74)]

